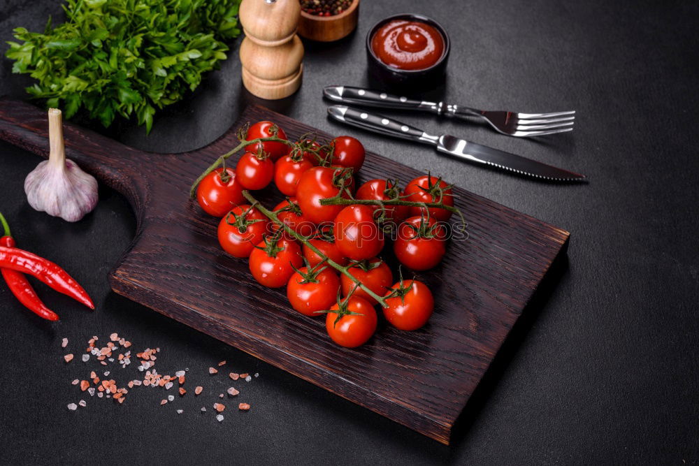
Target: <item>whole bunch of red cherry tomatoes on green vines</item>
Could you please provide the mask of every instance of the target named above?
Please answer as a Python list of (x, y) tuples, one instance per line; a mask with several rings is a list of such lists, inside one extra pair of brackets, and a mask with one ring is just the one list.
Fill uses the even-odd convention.
[[(287, 139), (283, 129), (268, 121), (241, 134), (245, 141), (271, 136)], [(287, 286), (294, 310), (305, 316), (325, 314), (329, 336), (343, 347), (358, 347), (373, 335), (379, 300), (387, 321), (401, 330), (424, 326), (434, 308), (424, 283), (403, 280), (402, 273), (394, 282), (378, 256), (387, 226), (393, 226), (398, 261), (411, 270), (433, 268), (445, 255), (443, 222), (452, 212), (375, 201), (454, 205), (451, 187), (431, 175), (415, 178), (402, 191), (397, 180), (368, 180), (355, 190), (354, 174), (364, 157), (364, 147), (350, 136), (326, 145), (307, 138), (294, 145), (259, 141), (245, 147), (235, 168), (212, 170), (196, 187), (202, 209), (221, 217), (218, 240), (224, 251), (248, 258), (260, 284)], [(243, 191), (272, 182), (287, 196), (273, 210), (245, 198)], [(321, 200), (328, 198), (340, 205), (323, 205)]]

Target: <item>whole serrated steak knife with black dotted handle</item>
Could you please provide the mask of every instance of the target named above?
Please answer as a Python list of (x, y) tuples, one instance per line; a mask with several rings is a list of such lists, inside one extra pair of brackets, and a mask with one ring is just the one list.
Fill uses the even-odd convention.
[(433, 136), (414, 126), (398, 122), (396, 119), (376, 115), (364, 110), (357, 110), (346, 105), (331, 105), (328, 107), (328, 113), (338, 122), (358, 126), (359, 128), (386, 136), (394, 136), (395, 138), (412, 140), (416, 143), (432, 145), (436, 147), (439, 154), (449, 154), (456, 159), (477, 165), (500, 168), (541, 180), (570, 182), (585, 179), (585, 175), (563, 170), (563, 168), (556, 168), (519, 155), (510, 154), (510, 152), (471, 143), (468, 140), (449, 136), (448, 134)]

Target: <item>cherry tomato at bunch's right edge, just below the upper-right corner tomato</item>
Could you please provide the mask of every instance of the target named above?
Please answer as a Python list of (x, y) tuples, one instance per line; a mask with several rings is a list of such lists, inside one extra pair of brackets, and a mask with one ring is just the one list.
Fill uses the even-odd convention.
[(427, 270), (444, 257), (447, 228), (433, 217), (410, 217), (398, 226), (394, 252), (398, 261), (412, 270)]

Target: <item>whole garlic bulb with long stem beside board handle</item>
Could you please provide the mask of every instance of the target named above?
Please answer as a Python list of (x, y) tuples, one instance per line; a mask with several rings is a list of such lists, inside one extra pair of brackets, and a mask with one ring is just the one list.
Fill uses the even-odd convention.
[(39, 212), (66, 221), (78, 221), (97, 205), (97, 180), (66, 159), (61, 110), (48, 110), (48, 160), (36, 166), (24, 180), (29, 205)]

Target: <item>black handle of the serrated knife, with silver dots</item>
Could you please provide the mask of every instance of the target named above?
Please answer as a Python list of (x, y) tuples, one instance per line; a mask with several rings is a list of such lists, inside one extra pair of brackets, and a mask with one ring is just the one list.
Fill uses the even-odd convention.
[(365, 110), (356, 110), (345, 105), (331, 105), (328, 107), (328, 113), (333, 119), (338, 120), (338, 122), (358, 126), (359, 128), (368, 129), (375, 133), (394, 136), (394, 138), (413, 140), (417, 143), (437, 144), (438, 138), (436, 136), (430, 136), (421, 129), (415, 128), (415, 126), (399, 122), (396, 119), (366, 112)]

